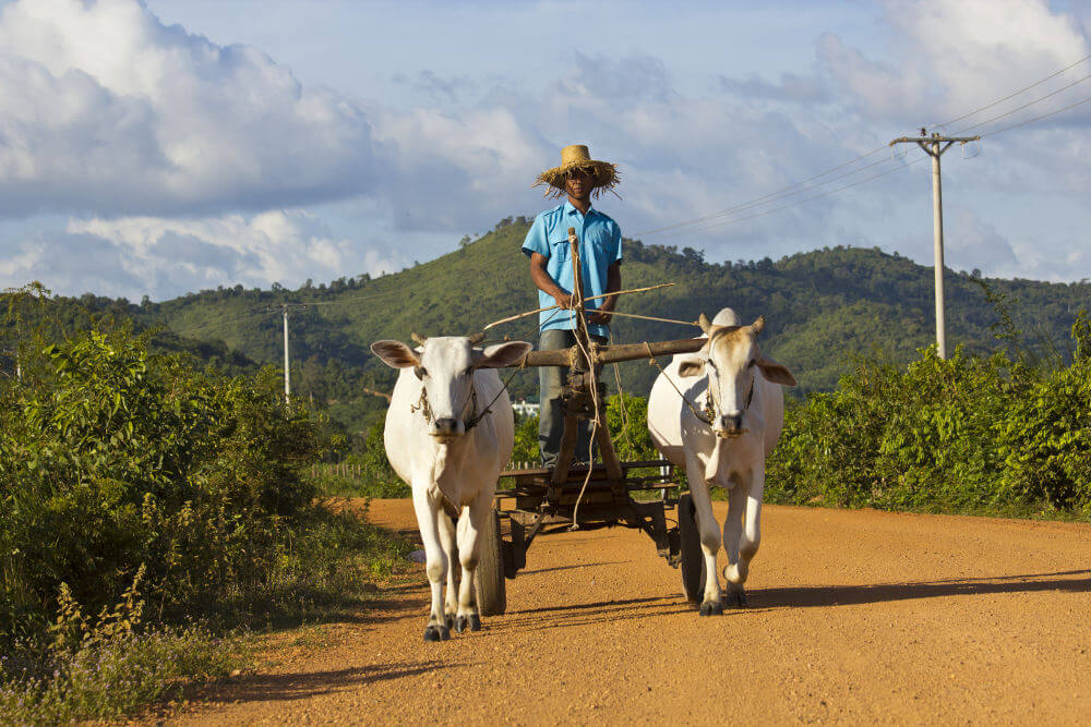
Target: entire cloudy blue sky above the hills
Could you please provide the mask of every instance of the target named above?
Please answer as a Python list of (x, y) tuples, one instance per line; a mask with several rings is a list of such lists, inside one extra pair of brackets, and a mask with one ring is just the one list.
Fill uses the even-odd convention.
[(948, 265), (1080, 280), (1091, 102), (1005, 129), (1091, 97), (1089, 19), (1039, 0), (9, 1), (0, 287), (161, 300), (398, 269), (542, 209), (530, 181), (570, 143), (619, 163), (598, 205), (645, 242), (931, 264), (928, 165), (884, 147), (986, 106), (937, 128), (986, 135), (944, 157)]

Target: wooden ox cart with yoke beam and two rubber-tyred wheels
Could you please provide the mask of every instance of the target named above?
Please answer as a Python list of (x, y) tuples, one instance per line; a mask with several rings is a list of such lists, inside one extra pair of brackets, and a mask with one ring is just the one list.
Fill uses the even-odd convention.
[[(599, 346), (590, 340), (584, 311), (578, 241), (568, 229), (576, 290), (576, 346), (558, 351), (531, 351), (524, 366), (567, 366), (563, 388), (564, 435), (556, 465), (551, 469), (502, 472), (495, 509), (481, 533), (477, 570), (478, 608), (482, 616), (503, 614), (507, 607), (505, 579), (514, 579), (527, 564), (527, 549), (541, 534), (578, 526), (582, 530), (623, 525), (643, 530), (657, 553), (672, 567), (682, 568), (686, 596), (699, 601), (704, 589), (704, 557), (694, 521), (690, 495), (680, 493), (671, 463), (666, 460), (622, 462), (606, 427), (606, 386), (598, 380), (602, 365), (621, 361), (672, 355), (699, 350), (705, 339), (683, 339)], [(580, 420), (598, 421), (595, 443), (600, 463), (590, 468), (573, 465), (577, 425)], [(649, 473), (649, 469), (651, 473)], [(658, 493), (654, 499), (635, 499), (634, 494)], [(668, 509), (676, 509), (669, 524)]]

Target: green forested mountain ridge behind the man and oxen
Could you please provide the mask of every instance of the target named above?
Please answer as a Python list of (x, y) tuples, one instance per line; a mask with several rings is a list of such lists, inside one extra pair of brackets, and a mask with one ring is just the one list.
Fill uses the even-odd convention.
[[(290, 314), (293, 390), (359, 432), (385, 407), (363, 388), (389, 390), (395, 372), (371, 355), (377, 339), (408, 340), (410, 331), (454, 335), (480, 330), (499, 318), (528, 311), (537, 296), (519, 246), (528, 228), (524, 218), (502, 220), (479, 240), (429, 263), (379, 278), (340, 278), (317, 287), (245, 290), (241, 286), (206, 290), (163, 303), (85, 295), (59, 301), (81, 303), (95, 313), (132, 317), (139, 327), (163, 326), (160, 348), (189, 349), (221, 366), (253, 362), (279, 365), (283, 322), (266, 306), (305, 303)], [(877, 249), (836, 247), (800, 253), (774, 262), (709, 263), (685, 247), (624, 242), (623, 286), (674, 282), (624, 296), (622, 312), (693, 320), (724, 306), (744, 320), (767, 319), (764, 350), (795, 372), (802, 395), (832, 388), (855, 355), (906, 362), (934, 340), (932, 269)], [(981, 283), (984, 283), (982, 286)], [(986, 289), (1006, 301), (1011, 325), (1004, 326)], [(1024, 343), (1046, 355), (1067, 358), (1076, 312), (1091, 305), (1091, 284), (980, 279), (950, 271), (947, 277), (948, 346), (984, 352), (1002, 344), (996, 334), (1022, 332)], [(69, 325), (79, 315), (64, 314)], [(494, 329), (500, 336), (535, 340), (536, 318)], [(631, 342), (693, 336), (695, 328), (615, 318), (614, 340)], [(172, 334), (172, 335), (170, 335)], [(646, 393), (657, 371), (645, 362), (622, 365), (625, 390)], [(613, 375), (606, 380), (611, 390)], [(513, 381), (516, 396), (537, 396), (532, 372)]]

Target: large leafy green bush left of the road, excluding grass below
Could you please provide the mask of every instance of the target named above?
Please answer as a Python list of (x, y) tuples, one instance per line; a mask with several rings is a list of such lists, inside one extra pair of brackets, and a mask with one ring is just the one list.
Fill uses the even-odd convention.
[(0, 411), (0, 630), (34, 633), (60, 585), (91, 609), (137, 567), (164, 610), (260, 593), (314, 489), (317, 443), (275, 372), (223, 378), (127, 331), (41, 349)]

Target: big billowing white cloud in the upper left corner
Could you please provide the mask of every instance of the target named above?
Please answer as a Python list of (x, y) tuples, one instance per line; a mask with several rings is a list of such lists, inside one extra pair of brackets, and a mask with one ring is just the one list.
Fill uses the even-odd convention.
[(266, 209), (383, 174), (361, 111), (133, 0), (0, 13), (0, 215)]

